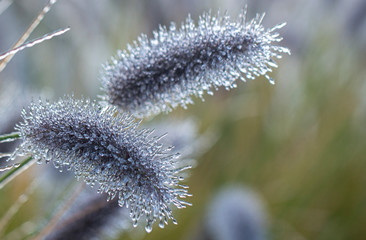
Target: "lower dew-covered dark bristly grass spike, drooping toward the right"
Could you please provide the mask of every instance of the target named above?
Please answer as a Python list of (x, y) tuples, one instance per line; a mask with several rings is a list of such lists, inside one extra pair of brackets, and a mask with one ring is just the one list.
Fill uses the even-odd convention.
[(135, 225), (143, 216), (148, 232), (157, 219), (162, 227), (168, 219), (175, 222), (170, 205), (189, 205), (180, 200), (189, 194), (179, 184), (179, 172), (187, 167), (177, 169), (178, 156), (151, 137), (152, 131), (138, 130), (130, 115), (66, 96), (32, 103), (23, 119), (17, 125), (23, 142), (15, 154), (67, 166), (88, 184), (98, 184), (99, 192), (117, 196), (119, 205), (130, 209)]

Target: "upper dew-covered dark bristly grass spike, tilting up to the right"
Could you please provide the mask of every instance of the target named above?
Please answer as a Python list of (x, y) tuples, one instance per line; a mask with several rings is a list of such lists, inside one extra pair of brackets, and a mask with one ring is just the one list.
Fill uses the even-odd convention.
[(264, 75), (273, 83), (267, 73), (289, 50), (276, 45), (282, 38), (274, 31), (284, 24), (264, 29), (263, 16), (246, 23), (244, 11), (236, 21), (208, 13), (197, 26), (188, 17), (180, 29), (172, 23), (152, 39), (141, 35), (104, 65), (102, 101), (145, 117), (185, 108), (193, 96), (202, 98), (221, 86), (236, 87), (238, 78)]

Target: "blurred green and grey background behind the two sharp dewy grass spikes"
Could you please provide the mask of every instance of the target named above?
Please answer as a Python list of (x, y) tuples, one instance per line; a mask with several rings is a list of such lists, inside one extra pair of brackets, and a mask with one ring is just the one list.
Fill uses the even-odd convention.
[[(46, 3), (0, 0), (0, 52), (11, 48)], [(101, 65), (140, 33), (152, 36), (159, 24), (179, 24), (188, 14), (197, 21), (209, 9), (236, 18), (245, 4), (249, 19), (266, 12), (265, 27), (287, 22), (279, 30), (281, 45), (292, 54), (277, 61), (271, 74), (276, 84), (264, 77), (240, 82), (205, 102), (196, 99), (188, 110), (146, 120), (190, 119), (183, 125), (191, 131), (185, 145), (196, 159), (186, 182), (193, 206), (175, 211), (178, 225), (156, 224), (150, 234), (121, 228), (113, 238), (241, 239), (215, 232), (238, 231), (234, 223), (251, 220), (230, 213), (242, 213), (252, 216), (247, 224), (260, 236), (242, 239), (365, 239), (364, 0), (59, 0), (30, 38), (61, 27), (71, 31), (16, 54), (0, 73), (0, 134), (12, 131), (32, 96), (96, 99)], [(1, 146), (0, 152), (12, 148)], [(32, 166), (0, 190), (0, 238), (32, 237), (76, 182), (50, 165)], [(225, 200), (227, 189), (243, 194), (234, 194), (236, 200), (223, 194)]]

